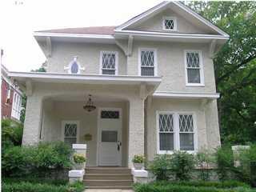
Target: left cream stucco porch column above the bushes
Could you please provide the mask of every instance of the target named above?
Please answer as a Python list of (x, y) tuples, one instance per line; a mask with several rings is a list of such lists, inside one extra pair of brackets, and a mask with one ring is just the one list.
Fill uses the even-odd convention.
[(39, 142), (42, 121), (42, 97), (32, 94), (27, 97), (22, 145)]

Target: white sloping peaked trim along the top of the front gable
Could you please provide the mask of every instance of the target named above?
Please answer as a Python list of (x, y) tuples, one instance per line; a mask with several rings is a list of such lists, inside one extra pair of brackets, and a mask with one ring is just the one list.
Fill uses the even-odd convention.
[(178, 6), (178, 8), (180, 8), (181, 10), (186, 11), (186, 13), (190, 14), (193, 18), (198, 19), (199, 22), (202, 22), (204, 25), (210, 27), (210, 29), (216, 31), (218, 34), (221, 34), (225, 37), (229, 37), (229, 35), (226, 34), (226, 32), (224, 32), (220, 28), (218, 28), (218, 26), (214, 26), (213, 23), (209, 22), (206, 18), (203, 18), (200, 14), (197, 14), (196, 12), (191, 10), (188, 6), (183, 5), (181, 2), (175, 2), (175, 1), (161, 2), (157, 6), (154, 6), (154, 7), (150, 8), (149, 10), (146, 10), (142, 14), (138, 14), (134, 18), (131, 18), (127, 22), (122, 23), (122, 25), (116, 27), (114, 31), (115, 32), (122, 31), (125, 28), (127, 28), (128, 26), (131, 26), (131, 25), (134, 25), (138, 22), (141, 22), (142, 19), (150, 18), (150, 16), (152, 16), (153, 14), (159, 13), (161, 10), (166, 9), (166, 7), (170, 6), (170, 4)]

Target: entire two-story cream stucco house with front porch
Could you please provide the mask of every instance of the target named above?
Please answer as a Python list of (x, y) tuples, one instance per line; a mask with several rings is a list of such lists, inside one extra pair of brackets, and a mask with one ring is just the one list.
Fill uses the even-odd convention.
[[(229, 39), (180, 2), (120, 26), (44, 30), (47, 72), (10, 72), (26, 90), (23, 144), (86, 143), (86, 166), (220, 146), (213, 57)], [(96, 110), (88, 112), (88, 95)]]

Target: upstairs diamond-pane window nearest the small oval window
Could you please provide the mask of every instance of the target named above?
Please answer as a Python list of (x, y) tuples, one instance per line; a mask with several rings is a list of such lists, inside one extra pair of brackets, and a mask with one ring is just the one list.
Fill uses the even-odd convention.
[(118, 52), (101, 51), (100, 74), (118, 74)]

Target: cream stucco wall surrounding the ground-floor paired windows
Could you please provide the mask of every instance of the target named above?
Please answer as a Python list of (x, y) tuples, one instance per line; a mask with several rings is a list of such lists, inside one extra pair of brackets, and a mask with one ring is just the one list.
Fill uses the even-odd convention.
[(147, 107), (146, 114), (146, 156), (153, 160), (157, 154), (157, 111), (194, 112), (196, 132), (198, 137), (198, 150), (213, 150), (220, 145), (218, 132), (218, 114), (216, 102), (210, 102), (202, 107), (200, 100), (181, 100), (167, 98), (153, 98), (151, 105)]

